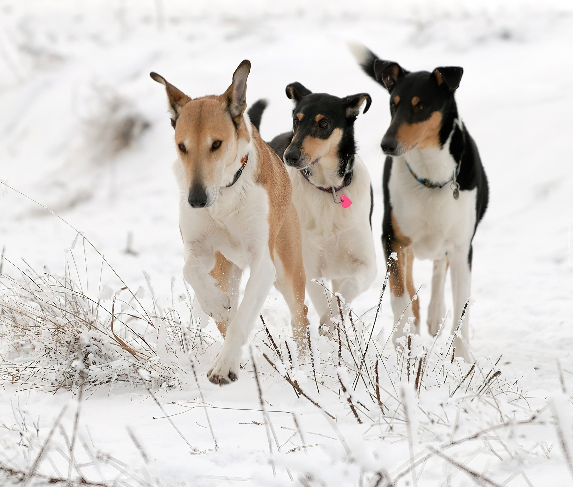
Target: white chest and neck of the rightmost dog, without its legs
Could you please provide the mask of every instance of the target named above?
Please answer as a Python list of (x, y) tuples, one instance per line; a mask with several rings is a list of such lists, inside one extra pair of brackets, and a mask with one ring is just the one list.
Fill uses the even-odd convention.
[[(428, 164), (410, 159), (410, 167), (415, 164), (413, 170), (419, 178), (447, 182), (456, 168), (454, 160), (447, 153), (433, 156)], [(394, 225), (411, 239), (416, 257), (438, 259), (469, 245), (476, 223), (477, 189), (460, 191), (460, 197), (454, 199), (450, 183), (442, 188), (424, 186), (399, 156), (393, 160), (388, 190)]]

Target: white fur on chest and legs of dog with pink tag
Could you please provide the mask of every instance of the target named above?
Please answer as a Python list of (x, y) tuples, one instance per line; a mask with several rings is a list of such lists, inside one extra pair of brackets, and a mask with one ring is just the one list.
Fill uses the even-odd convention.
[[(325, 161), (328, 164), (329, 161)], [(321, 159), (315, 166), (321, 166)], [(313, 166), (315, 184), (339, 186), (338, 176), (330, 180), (327, 167)], [(368, 216), (370, 215), (370, 175), (358, 156), (354, 159), (354, 175), (349, 186), (337, 192), (337, 199), (345, 194), (352, 205), (343, 208), (333, 201), (331, 193), (325, 193), (309, 183), (301, 172), (287, 166), (291, 176), (292, 201), (299, 214), (303, 234), (303, 260), (307, 276), (307, 292), (320, 316), (320, 324), (329, 324), (330, 309), (336, 313), (336, 298), (325, 296), (323, 287), (313, 278), (332, 280), (333, 290), (344, 297), (346, 303), (364, 292), (376, 277), (374, 239)], [(336, 170), (333, 168), (333, 171)]]

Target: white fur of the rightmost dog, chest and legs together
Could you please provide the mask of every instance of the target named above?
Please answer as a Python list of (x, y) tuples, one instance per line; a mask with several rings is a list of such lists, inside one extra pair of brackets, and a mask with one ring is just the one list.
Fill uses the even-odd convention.
[[(426, 178), (436, 183), (452, 179), (457, 162), (449, 152), (449, 144), (438, 148), (414, 148), (406, 154), (393, 158), (392, 171), (388, 182), (393, 217), (401, 232), (411, 238), (414, 256), (434, 261), (432, 293), (428, 312), (430, 333), (435, 333), (444, 319), (444, 282), (448, 261), (452, 276), (454, 316), (453, 329), (457, 326), (462, 309), (470, 295), (471, 273), (468, 253), (476, 225), (477, 188), (460, 191), (460, 198), (453, 198), (450, 183), (442, 188), (427, 188), (419, 183), (406, 166), (406, 162), (418, 178)], [(392, 294), (392, 308), (395, 323), (401, 325), (394, 335), (394, 341), (403, 335), (402, 325), (413, 317), (411, 307), (404, 309), (410, 297), (404, 293), (401, 297)], [(402, 319), (400, 316), (404, 313)], [(456, 339), (456, 355), (468, 360), (469, 352), (465, 343), (469, 343), (469, 313), (466, 312), (462, 337)]]

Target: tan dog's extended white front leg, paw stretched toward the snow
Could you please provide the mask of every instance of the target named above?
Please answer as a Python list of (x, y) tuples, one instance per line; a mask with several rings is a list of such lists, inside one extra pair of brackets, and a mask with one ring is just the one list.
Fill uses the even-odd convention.
[(245, 288), (245, 295), (237, 309), (237, 314), (227, 327), (223, 346), (207, 373), (209, 380), (215, 384), (228, 384), (238, 379), (241, 347), (249, 338), (249, 333), (265, 303), (270, 288), (276, 277), (276, 269), (268, 249), (264, 257), (258, 258), (250, 266), (250, 277)]

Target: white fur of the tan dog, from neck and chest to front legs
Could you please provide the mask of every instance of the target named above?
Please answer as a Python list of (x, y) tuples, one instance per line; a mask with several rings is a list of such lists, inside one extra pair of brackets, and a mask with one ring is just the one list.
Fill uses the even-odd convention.
[[(247, 153), (248, 163), (233, 186), (217, 190), (211, 206), (194, 209), (189, 205), (189, 188), (183, 178), (182, 163), (176, 160), (174, 164), (181, 192), (179, 227), (185, 257), (183, 276), (193, 287), (195, 297), (207, 315), (217, 321), (230, 320), (223, 347), (207, 374), (209, 378), (226, 378), (229, 372), (238, 375), (241, 347), (246, 343), (276, 277), (268, 245), (268, 193), (254, 180), (258, 164), (257, 152), (252, 142), (252, 127), (246, 115), (245, 121), (251, 142), (240, 140), (236, 160), (225, 169), (225, 184), (233, 180), (234, 174), (241, 167), (241, 159)], [(209, 275), (217, 251), (238, 268), (250, 268), (251, 277), (238, 308), (236, 294), (233, 297), (223, 293), (218, 282)], [(234, 282), (231, 282), (231, 286), (236, 286), (240, 277), (241, 272), (233, 272), (231, 281)]]

